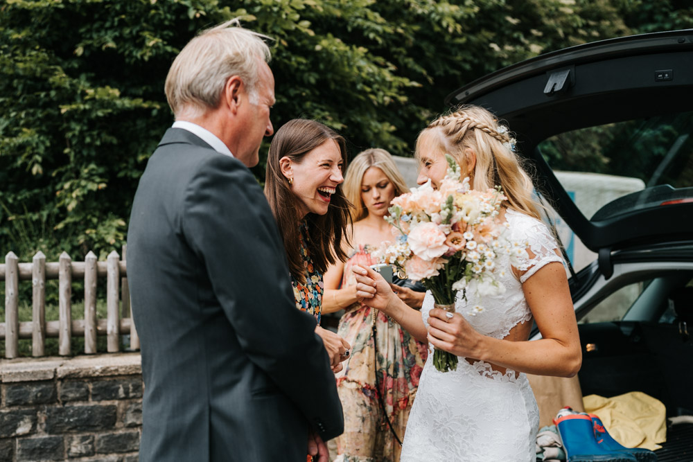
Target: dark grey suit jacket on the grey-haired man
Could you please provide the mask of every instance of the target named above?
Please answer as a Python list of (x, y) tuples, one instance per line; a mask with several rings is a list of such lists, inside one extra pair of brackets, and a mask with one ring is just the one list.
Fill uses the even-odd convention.
[(240, 161), (171, 128), (132, 205), (128, 282), (144, 379), (140, 460), (301, 461), (342, 433), (315, 319)]

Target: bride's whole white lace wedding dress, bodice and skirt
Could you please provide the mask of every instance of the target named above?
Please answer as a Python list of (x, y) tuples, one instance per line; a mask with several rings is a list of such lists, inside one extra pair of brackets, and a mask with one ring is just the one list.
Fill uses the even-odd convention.
[[(499, 261), (497, 279), (505, 293), (467, 300), (457, 297), (455, 309), (478, 332), (502, 339), (516, 326), (532, 319), (522, 284), (538, 269), (562, 262), (558, 246), (540, 221), (508, 210), (509, 238), (526, 243), (527, 258), (520, 260), (519, 281), (512, 272), (510, 259)], [(480, 304), (481, 312), (471, 314)], [(421, 313), (428, 327), (428, 312), (433, 297), (426, 294)], [(457, 369), (441, 373), (432, 364), (432, 356), (423, 368), (419, 390), (407, 424), (402, 462), (431, 461), (525, 461), (535, 460), (535, 440), (539, 425), (536, 400), (527, 377), (508, 369), (494, 371), (491, 364), (469, 364), (459, 359)]]

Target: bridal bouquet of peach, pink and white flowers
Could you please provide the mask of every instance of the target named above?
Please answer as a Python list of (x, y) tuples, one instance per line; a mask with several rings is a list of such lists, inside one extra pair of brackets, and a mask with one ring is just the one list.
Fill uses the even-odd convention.
[[(484, 192), (471, 190), (469, 179), (459, 180), (457, 162), (446, 154), (448, 171), (440, 188), (430, 181), (411, 193), (395, 197), (386, 220), (401, 233), (396, 242), (383, 249), (383, 263), (394, 265), (400, 277), (421, 283), (430, 290), (436, 308), (455, 312), (455, 296), (469, 291), (482, 296), (505, 292), (495, 278), (496, 261), (508, 254), (511, 261), (525, 247), (504, 238), (507, 223), (496, 217), (506, 199), (500, 186)], [(475, 305), (468, 312), (484, 310)], [(435, 350), (433, 364), (438, 371), (457, 368), (457, 356)]]

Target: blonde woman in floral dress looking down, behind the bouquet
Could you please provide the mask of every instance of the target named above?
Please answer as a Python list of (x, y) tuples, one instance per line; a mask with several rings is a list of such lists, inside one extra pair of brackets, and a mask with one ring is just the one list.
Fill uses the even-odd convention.
[[(325, 273), (322, 309), (324, 313), (345, 310), (337, 333), (352, 347), (344, 370), (337, 373), (344, 434), (337, 438), (336, 461), (399, 460), (401, 438), (426, 362), (425, 344), (382, 312), (358, 303), (351, 272), (353, 265), (379, 263), (374, 251), (394, 240), (392, 225), (385, 221), (387, 208), (408, 190), (392, 156), (382, 149), (358, 154), (344, 179), (344, 195), (355, 206), (349, 260), (331, 265)], [(423, 286), (395, 276), (392, 287), (407, 305), (421, 307)]]

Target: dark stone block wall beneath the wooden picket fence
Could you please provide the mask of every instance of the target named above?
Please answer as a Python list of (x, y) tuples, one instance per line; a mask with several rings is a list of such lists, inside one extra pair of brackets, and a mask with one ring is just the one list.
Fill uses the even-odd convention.
[(137, 461), (139, 353), (0, 364), (0, 461)]

